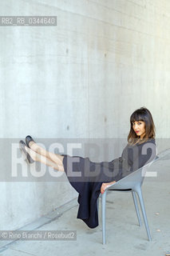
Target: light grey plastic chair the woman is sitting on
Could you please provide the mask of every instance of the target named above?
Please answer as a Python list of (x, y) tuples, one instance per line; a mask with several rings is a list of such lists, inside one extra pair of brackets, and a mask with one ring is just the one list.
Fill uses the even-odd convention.
[[(152, 160), (152, 162), (155, 162), (157, 160), (157, 156), (155, 159)], [(143, 214), (144, 218), (144, 225), (148, 234), (148, 241), (151, 241), (151, 234), (148, 227), (148, 220), (144, 208), (144, 199), (142, 196), (142, 190), (141, 186), (144, 182), (144, 175), (146, 171), (148, 170), (148, 167), (152, 164), (152, 162), (149, 162), (147, 165), (141, 167), (138, 170), (135, 170), (131, 174), (128, 174), (125, 178), (121, 178), (118, 182), (114, 183), (113, 185), (110, 185), (105, 189), (105, 192), (103, 194), (100, 194), (99, 197), (101, 197), (101, 216), (102, 216), (102, 242), (105, 244), (105, 202), (106, 202), (106, 195), (108, 190), (118, 190), (118, 191), (127, 191), (132, 192), (132, 198), (136, 209), (136, 214), (138, 218), (139, 225), (141, 226), (141, 219), (140, 219), (140, 212), (139, 208), (137, 206), (137, 199), (136, 194), (138, 195), (139, 201), (140, 201), (140, 208)], [(99, 198), (97, 199), (97, 208), (99, 207)]]

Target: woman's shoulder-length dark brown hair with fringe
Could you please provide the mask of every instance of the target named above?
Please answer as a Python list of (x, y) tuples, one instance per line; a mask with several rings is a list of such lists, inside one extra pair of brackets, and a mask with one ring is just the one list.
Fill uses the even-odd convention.
[[(132, 128), (132, 123), (133, 122), (138, 122), (138, 121), (143, 121), (144, 122), (144, 128), (145, 128), (145, 135), (142, 140), (137, 136), (136, 132)], [(140, 107), (140, 109), (135, 110), (130, 117), (130, 131), (128, 134), (128, 144), (134, 145), (136, 143), (143, 143), (148, 141), (149, 138), (155, 138), (155, 125), (152, 119), (152, 114), (151, 112), (143, 107)]]

